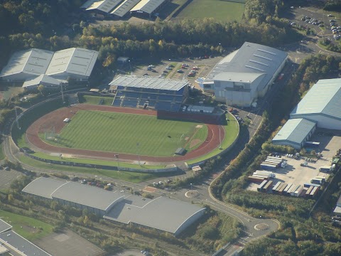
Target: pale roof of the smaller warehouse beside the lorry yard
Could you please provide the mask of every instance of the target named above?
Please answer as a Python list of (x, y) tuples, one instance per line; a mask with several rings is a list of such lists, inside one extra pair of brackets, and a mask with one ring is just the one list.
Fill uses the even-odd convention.
[(301, 144), (315, 125), (315, 122), (311, 122), (304, 118), (288, 119), (286, 124), (283, 125), (274, 139), (272, 139), (272, 142), (286, 140)]

